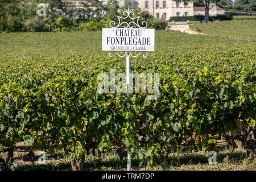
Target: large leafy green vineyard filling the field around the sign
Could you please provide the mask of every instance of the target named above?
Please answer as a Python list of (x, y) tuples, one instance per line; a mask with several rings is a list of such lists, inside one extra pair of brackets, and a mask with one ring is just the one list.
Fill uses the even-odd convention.
[[(222, 22), (192, 28), (197, 25), (219, 34)], [(226, 27), (222, 35), (230, 36), (229, 30), (244, 39), (156, 31), (155, 52), (131, 59), (131, 72), (159, 74), (156, 100), (147, 100), (149, 93), (97, 92), (100, 73), (126, 72), (125, 59), (101, 51), (101, 32), (1, 33), (2, 158), (15, 168), (13, 151), (24, 142), (32, 162), (35, 150), (61, 151), (73, 170), (85, 169), (85, 162), (95, 169), (95, 161), (116, 150), (125, 159), (127, 148), (133, 165), (170, 166), (173, 151), (219, 152), (222, 136), (228, 162), (234, 139), (247, 149), (255, 135), (255, 20)], [(254, 155), (250, 150), (243, 157)], [(208, 163), (207, 156), (199, 161)], [(125, 161), (110, 163), (125, 169)]]

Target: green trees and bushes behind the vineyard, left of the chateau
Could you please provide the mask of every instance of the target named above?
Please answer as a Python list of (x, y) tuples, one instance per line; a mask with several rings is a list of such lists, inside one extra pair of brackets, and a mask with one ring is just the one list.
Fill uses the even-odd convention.
[[(103, 6), (98, 0), (85, 2), (82, 3), (83, 8), (77, 9), (63, 1), (49, 1), (46, 17), (39, 17), (36, 14), (38, 4), (46, 1), (0, 2), (0, 32), (99, 31), (101, 28), (109, 27), (110, 20), (117, 22), (117, 15), (123, 13), (123, 9), (118, 13), (115, 1), (110, 1), (108, 7)], [(75, 18), (74, 14), (85, 14), (85, 17)], [(135, 9), (134, 16), (138, 15), (142, 15), (140, 22), (146, 20), (150, 28), (164, 30), (167, 26), (165, 20), (154, 19), (148, 12)]]

